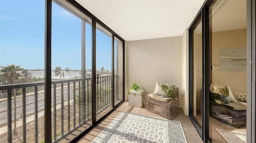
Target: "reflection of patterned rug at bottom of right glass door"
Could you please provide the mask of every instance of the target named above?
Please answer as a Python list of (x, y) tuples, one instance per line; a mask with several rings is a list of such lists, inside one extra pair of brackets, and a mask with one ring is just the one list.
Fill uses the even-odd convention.
[(228, 143), (246, 143), (246, 133), (215, 128)]

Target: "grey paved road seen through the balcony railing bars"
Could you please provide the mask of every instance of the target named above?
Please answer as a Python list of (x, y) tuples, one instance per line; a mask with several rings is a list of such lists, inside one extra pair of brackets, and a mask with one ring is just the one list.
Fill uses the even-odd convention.
[[(76, 92), (77, 94), (78, 92)], [(56, 90), (56, 104), (61, 103), (61, 89)], [(68, 89), (63, 89), (64, 100), (68, 99)], [(73, 98), (73, 92), (70, 89), (70, 99)], [(53, 105), (53, 91), (52, 91)], [(38, 94), (38, 110), (44, 109), (44, 93)], [(34, 95), (26, 96), (26, 115), (34, 113)], [(22, 98), (16, 98), (16, 118), (20, 119), (22, 114)], [(7, 122), (7, 100), (0, 102), (0, 124)], [(12, 100), (12, 119), (14, 119), (14, 100)]]

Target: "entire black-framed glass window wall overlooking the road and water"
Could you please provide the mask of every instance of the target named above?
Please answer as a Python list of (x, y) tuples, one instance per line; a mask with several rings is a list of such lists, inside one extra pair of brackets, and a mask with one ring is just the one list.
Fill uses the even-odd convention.
[(78, 3), (0, 6), (1, 141), (76, 141), (124, 101), (124, 40)]

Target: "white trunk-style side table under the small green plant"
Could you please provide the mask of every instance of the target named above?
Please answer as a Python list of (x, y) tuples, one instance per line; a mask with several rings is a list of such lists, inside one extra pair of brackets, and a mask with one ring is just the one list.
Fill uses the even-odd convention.
[(144, 105), (145, 95), (144, 89), (130, 90), (128, 91), (129, 106), (142, 108)]

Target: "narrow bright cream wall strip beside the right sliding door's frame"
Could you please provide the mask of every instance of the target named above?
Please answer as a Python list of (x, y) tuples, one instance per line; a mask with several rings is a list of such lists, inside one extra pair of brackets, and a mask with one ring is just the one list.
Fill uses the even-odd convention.
[(188, 28), (182, 34), (182, 109), (185, 115), (188, 116)]

